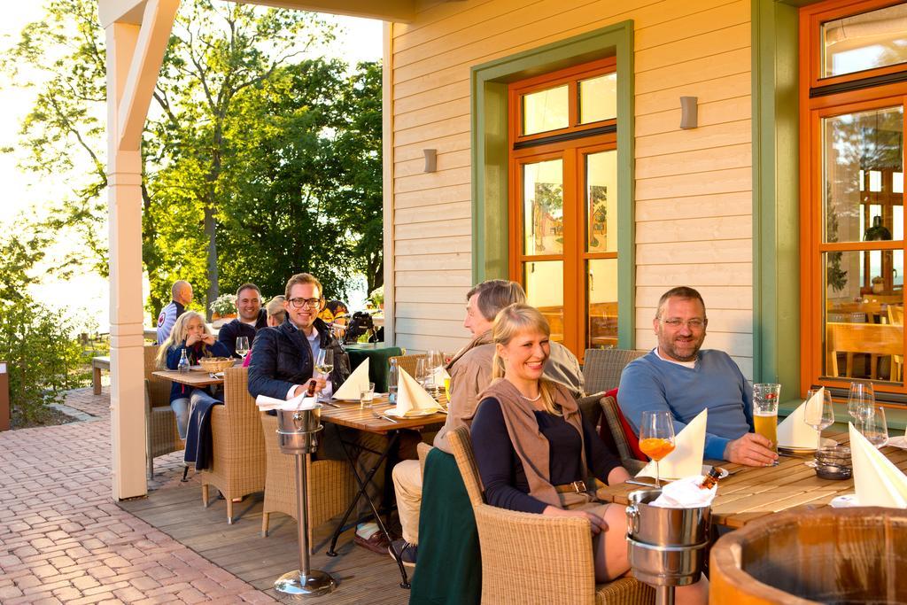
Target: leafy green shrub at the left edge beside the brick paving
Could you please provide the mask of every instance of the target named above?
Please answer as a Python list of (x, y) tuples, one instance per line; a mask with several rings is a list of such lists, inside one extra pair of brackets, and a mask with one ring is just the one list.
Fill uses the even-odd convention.
[(30, 298), (0, 300), (0, 359), (7, 363), (15, 424), (41, 422), (71, 387), (81, 348), (63, 312)]

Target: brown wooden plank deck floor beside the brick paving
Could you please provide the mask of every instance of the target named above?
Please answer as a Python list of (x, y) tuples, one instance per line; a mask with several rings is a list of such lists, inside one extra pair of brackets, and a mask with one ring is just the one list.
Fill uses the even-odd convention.
[[(212, 501), (207, 509), (202, 507), (201, 488), (197, 483), (157, 490), (147, 498), (123, 502), (120, 506), (274, 598), (277, 598), (272, 589), (274, 581), (287, 571), (298, 569), (296, 522), (286, 515), (272, 513), (269, 535), (262, 538), (260, 494), (234, 504), (239, 519), (232, 525), (227, 524), (224, 501)], [(340, 537), (339, 556), (328, 557), (325, 551), (333, 527), (327, 523), (317, 528), (311, 566), (334, 576), (338, 588), (330, 595), (306, 602), (338, 605), (408, 602), (409, 590), (400, 588), (400, 572), (390, 555), (380, 556), (357, 548), (352, 542), (352, 531)]]

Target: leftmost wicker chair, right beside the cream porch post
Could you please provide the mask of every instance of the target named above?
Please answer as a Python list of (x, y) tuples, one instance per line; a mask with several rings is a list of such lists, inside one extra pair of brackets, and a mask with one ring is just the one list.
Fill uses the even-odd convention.
[(152, 376), (157, 369), (158, 346), (144, 347), (145, 354), (145, 458), (148, 478), (154, 474), (154, 459), (186, 447), (176, 428), (176, 416), (170, 406), (171, 383)]

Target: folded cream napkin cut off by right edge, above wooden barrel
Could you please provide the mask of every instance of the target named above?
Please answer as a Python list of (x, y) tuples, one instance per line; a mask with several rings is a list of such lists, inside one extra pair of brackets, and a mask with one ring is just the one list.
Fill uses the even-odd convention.
[(907, 475), (848, 423), (853, 485), (861, 506), (907, 508)]

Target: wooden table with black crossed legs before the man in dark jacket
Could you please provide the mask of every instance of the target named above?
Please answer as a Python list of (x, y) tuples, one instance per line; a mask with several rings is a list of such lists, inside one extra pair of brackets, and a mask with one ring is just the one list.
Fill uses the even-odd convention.
[[(447, 398), (444, 396), (444, 391), (441, 392), (441, 395), (438, 398), (438, 403), (444, 406), (444, 408), (446, 409)], [(359, 489), (356, 492), (356, 496), (353, 498), (353, 501), (349, 503), (349, 506), (346, 507), (346, 512), (344, 512), (344, 515), (340, 519), (340, 522), (337, 523), (336, 529), (334, 530), (334, 535), (331, 537), (331, 543), (327, 549), (327, 554), (331, 557), (336, 557), (337, 552), (335, 549), (337, 539), (340, 537), (341, 533), (349, 529), (349, 527), (346, 525), (346, 522), (349, 520), (349, 516), (353, 513), (354, 509), (356, 508), (356, 503), (359, 502), (360, 498), (365, 498), (369, 503), (372, 512), (375, 514), (375, 522), (378, 523), (378, 527), (381, 528), (381, 531), (385, 532), (385, 535), (390, 535), (387, 533), (385, 523), (381, 520), (381, 515), (378, 514), (378, 509), (375, 506), (375, 503), (372, 502), (372, 499), (366, 492), (366, 488), (368, 487), (369, 483), (372, 483), (372, 480), (375, 477), (375, 473), (381, 467), (381, 464), (385, 462), (387, 456), (391, 454), (391, 452), (394, 452), (397, 444), (400, 443), (401, 431), (418, 431), (428, 426), (444, 424), (444, 421), (447, 419), (447, 415), (438, 413), (418, 416), (414, 418), (394, 418), (395, 422), (391, 422), (390, 420), (386, 420), (385, 418), (375, 417), (375, 415), (372, 413), (373, 410), (376, 414), (382, 415), (388, 409), (390, 409), (390, 402), (388, 401), (387, 395), (376, 395), (370, 409), (359, 409), (359, 402), (331, 401), (327, 404), (322, 402), (322, 404), (321, 420), (324, 422), (337, 424), (339, 426), (346, 426), (347, 428), (353, 428), (357, 431), (365, 431), (366, 433), (383, 434), (387, 436), (387, 446), (385, 447), (384, 452), (375, 452), (376, 454), (380, 454), (380, 457), (375, 463), (375, 466), (368, 470), (365, 477), (360, 477), (358, 471), (356, 470), (356, 456), (354, 456), (354, 453), (357, 445), (351, 442), (346, 442), (343, 439), (340, 440), (340, 443), (343, 445), (344, 453), (346, 454), (346, 461), (349, 463), (350, 468), (353, 470), (353, 475), (356, 477), (356, 483), (358, 484)], [(349, 445), (350, 447), (347, 448), (347, 445)], [(387, 470), (390, 470), (389, 466)], [(389, 475), (390, 473), (387, 474)], [(400, 560), (399, 553), (394, 551), (392, 552), (392, 554), (394, 555), (397, 567), (400, 569), (400, 586), (402, 588), (409, 588), (409, 578), (406, 575), (403, 561)]]

